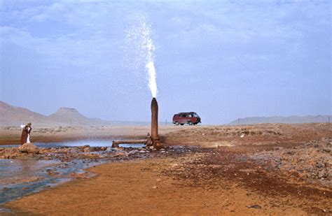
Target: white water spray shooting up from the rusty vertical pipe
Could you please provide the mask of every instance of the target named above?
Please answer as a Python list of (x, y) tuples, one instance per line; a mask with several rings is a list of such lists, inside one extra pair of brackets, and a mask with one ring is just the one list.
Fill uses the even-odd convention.
[[(146, 71), (146, 77), (148, 81), (148, 87), (151, 90), (152, 97), (157, 97), (158, 89), (155, 74), (154, 65), (154, 50), (155, 46), (151, 38), (151, 24), (146, 24), (144, 17), (140, 22), (126, 31), (126, 42), (130, 46), (131, 61), (127, 64), (134, 64), (131, 67), (136, 71), (139, 71), (144, 66)], [(136, 55), (132, 57), (132, 55)]]

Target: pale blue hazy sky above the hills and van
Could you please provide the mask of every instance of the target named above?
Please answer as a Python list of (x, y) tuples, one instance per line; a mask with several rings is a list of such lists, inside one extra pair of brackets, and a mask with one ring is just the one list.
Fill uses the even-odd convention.
[(0, 13), (0, 97), (13, 106), (148, 121), (146, 72), (125, 43), (144, 17), (160, 120), (332, 113), (331, 1), (0, 0)]

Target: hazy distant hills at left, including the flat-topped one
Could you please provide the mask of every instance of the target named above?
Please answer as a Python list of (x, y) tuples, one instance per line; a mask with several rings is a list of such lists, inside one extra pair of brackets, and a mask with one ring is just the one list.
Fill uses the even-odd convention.
[(63, 107), (57, 110), (56, 113), (47, 116), (0, 101), (0, 126), (18, 126), (27, 122), (32, 122), (37, 127), (111, 124), (110, 121), (104, 121), (99, 118), (85, 117), (75, 108)]

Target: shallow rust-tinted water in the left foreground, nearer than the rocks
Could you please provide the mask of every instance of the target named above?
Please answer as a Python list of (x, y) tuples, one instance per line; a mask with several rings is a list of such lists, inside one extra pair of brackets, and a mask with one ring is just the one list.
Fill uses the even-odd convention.
[(76, 159), (70, 162), (36, 159), (0, 159), (0, 204), (71, 180), (71, 173), (104, 161)]

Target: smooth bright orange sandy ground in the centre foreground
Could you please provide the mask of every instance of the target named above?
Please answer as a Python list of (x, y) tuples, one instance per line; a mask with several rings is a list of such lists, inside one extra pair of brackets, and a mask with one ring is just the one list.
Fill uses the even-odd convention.
[[(219, 182), (216, 188), (195, 187), (186, 180), (162, 175), (165, 167), (177, 166), (174, 162), (177, 161), (163, 159), (104, 164), (90, 168), (98, 174), (95, 178), (69, 182), (8, 206), (20, 206), (22, 211), (16, 213), (42, 215), (305, 214), (296, 206), (282, 204), (291, 196), (271, 202), (229, 180)], [(261, 208), (247, 208), (257, 204)]]

